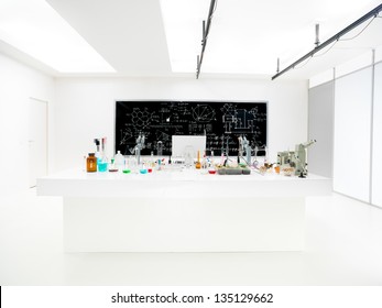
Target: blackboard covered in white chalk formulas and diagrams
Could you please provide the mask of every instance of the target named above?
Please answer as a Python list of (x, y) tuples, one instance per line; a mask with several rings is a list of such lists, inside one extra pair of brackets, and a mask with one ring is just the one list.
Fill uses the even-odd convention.
[[(133, 154), (139, 134), (145, 136), (142, 155), (171, 155), (172, 135), (207, 136), (206, 151), (214, 155), (238, 155), (238, 136), (245, 136), (252, 148), (266, 145), (265, 101), (117, 101), (116, 152)], [(264, 151), (258, 153), (264, 155)]]

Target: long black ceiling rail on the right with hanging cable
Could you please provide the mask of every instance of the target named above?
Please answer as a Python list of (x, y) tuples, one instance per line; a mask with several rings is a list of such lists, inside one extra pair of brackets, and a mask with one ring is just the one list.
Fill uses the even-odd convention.
[(337, 34), (335, 34), (334, 36), (331, 36), (329, 40), (325, 41), (323, 44), (318, 45), (317, 47), (315, 47), (313, 51), (310, 51), (309, 53), (307, 53), (305, 56), (302, 56), (299, 59), (297, 59), (296, 62), (294, 62), (293, 64), (291, 64), (288, 67), (284, 68), (283, 70), (281, 70), (280, 73), (277, 72), (276, 75), (274, 75), (272, 77), (272, 80), (274, 80), (275, 78), (280, 77), (281, 75), (283, 75), (284, 73), (288, 72), (290, 69), (294, 68), (296, 65), (298, 65), (299, 63), (306, 61), (309, 57), (313, 57), (317, 52), (321, 51), (323, 48), (327, 47), (328, 45), (330, 45), (331, 43), (339, 41), (339, 38), (341, 36), (343, 36), (345, 34), (347, 34), (348, 32), (350, 32), (351, 30), (353, 30), (354, 28), (359, 26), (360, 24), (362, 24), (363, 22), (365, 22), (367, 20), (369, 20), (370, 18), (375, 18), (378, 16), (378, 14), (382, 11), (382, 3), (380, 6), (378, 6), (376, 8), (374, 8), (373, 10), (371, 10), (369, 13), (364, 14), (363, 16), (361, 16), (360, 19), (358, 19), (357, 21), (354, 21), (353, 23), (351, 23), (350, 25), (348, 25), (347, 28), (345, 28), (343, 30), (341, 30), (340, 32), (338, 32)]

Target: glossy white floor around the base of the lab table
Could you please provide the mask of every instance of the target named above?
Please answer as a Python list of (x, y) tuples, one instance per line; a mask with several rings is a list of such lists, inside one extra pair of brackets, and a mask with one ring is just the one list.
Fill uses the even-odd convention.
[(306, 250), (89, 253), (62, 250), (62, 200), (0, 197), (0, 285), (382, 285), (382, 209), (308, 198)]

